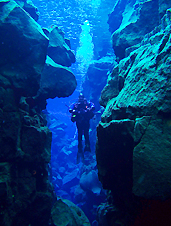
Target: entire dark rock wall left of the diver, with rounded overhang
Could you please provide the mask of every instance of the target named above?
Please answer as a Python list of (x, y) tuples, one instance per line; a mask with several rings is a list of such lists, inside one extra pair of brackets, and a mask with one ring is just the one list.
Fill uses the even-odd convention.
[[(41, 106), (46, 98), (71, 95), (76, 80), (68, 68), (46, 60), (49, 38), (21, 6), (0, 1), (0, 224), (47, 226), (54, 198), (48, 180), (52, 135)], [(58, 82), (54, 88), (56, 77), (46, 81), (38, 104), (46, 67)]]

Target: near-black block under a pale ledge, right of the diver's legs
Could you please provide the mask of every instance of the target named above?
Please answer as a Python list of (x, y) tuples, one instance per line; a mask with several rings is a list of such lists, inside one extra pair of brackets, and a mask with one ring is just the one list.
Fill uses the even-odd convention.
[(129, 119), (100, 123), (97, 129), (99, 179), (104, 189), (112, 190), (118, 198), (132, 188), (133, 129), (134, 121)]

